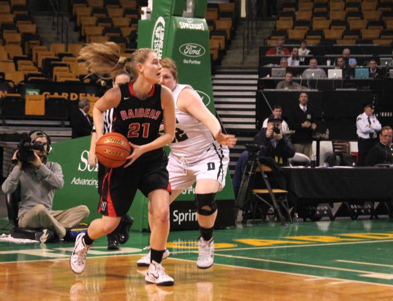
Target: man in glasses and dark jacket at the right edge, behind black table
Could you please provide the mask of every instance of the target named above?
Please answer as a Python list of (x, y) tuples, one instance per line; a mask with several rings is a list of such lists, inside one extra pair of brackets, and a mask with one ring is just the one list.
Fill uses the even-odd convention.
[(370, 149), (369, 155), (367, 156), (366, 166), (393, 164), (392, 138), (393, 130), (391, 127), (382, 127), (379, 134), (379, 142)]

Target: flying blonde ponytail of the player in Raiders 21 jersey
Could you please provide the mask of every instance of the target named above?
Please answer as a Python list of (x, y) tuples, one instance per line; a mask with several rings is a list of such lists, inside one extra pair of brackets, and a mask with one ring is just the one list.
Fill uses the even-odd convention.
[[(127, 71), (137, 78), (137, 64), (143, 64), (150, 52), (153, 50), (141, 48), (133, 52), (130, 58), (125, 58), (120, 56), (120, 47), (114, 42), (89, 43), (80, 50), (78, 60), (84, 61), (83, 63), (88, 66), (87, 76), (95, 73), (104, 79), (114, 78), (115, 74), (123, 71), (128, 65)], [(109, 76), (106, 76), (108, 74)]]

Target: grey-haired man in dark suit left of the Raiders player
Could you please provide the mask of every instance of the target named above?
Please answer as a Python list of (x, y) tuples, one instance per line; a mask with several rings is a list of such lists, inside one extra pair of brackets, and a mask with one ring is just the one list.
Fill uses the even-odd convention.
[(90, 110), (90, 100), (82, 98), (78, 102), (79, 109), (71, 116), (71, 138), (90, 136), (93, 129), (93, 120), (87, 114)]

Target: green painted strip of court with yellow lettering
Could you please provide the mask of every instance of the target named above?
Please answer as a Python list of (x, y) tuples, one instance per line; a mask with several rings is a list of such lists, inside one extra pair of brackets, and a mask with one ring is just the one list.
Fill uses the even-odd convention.
[[(3, 231), (6, 232), (6, 231)], [(167, 248), (173, 259), (195, 260), (199, 231), (173, 231)], [(248, 267), (367, 283), (393, 285), (393, 221), (256, 223), (216, 230), (215, 264)], [(131, 232), (119, 251), (97, 239), (88, 257), (145, 254), (149, 233)], [(0, 261), (65, 259), (73, 243), (0, 241)]]

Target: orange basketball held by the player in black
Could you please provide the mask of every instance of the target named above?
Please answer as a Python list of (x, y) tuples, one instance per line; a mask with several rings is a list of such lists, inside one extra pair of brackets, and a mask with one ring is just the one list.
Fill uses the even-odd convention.
[(95, 155), (103, 166), (113, 168), (122, 166), (131, 153), (127, 138), (119, 133), (106, 133), (95, 144)]

